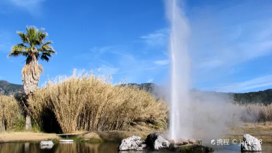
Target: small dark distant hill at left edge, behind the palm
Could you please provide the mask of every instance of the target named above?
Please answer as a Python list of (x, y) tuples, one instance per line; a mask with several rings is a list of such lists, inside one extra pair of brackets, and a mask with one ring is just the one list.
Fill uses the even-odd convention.
[(13, 93), (24, 91), (21, 84), (9, 83), (5, 80), (0, 80), (0, 95), (12, 95)]

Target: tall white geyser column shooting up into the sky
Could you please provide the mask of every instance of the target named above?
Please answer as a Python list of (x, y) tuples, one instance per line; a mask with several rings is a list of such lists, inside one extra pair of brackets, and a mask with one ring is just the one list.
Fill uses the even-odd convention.
[(181, 0), (167, 0), (167, 17), (171, 25), (169, 53), (171, 61), (170, 139), (191, 138), (190, 118), (190, 58), (187, 40), (190, 35), (188, 22), (180, 7)]

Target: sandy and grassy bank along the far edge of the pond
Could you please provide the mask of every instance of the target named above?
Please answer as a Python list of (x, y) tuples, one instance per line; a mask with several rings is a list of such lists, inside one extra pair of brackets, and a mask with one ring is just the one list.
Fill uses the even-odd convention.
[[(142, 139), (152, 132), (162, 131), (101, 131), (101, 132), (79, 132), (76, 137), (70, 137), (75, 141), (87, 142), (120, 142), (122, 139), (132, 135), (140, 136)], [(263, 143), (272, 143), (272, 122), (266, 123), (244, 123), (242, 126), (235, 127), (225, 134), (222, 139), (242, 140), (243, 134), (250, 134)], [(58, 141), (65, 139), (57, 134), (34, 133), (34, 132), (1, 132), (0, 143), (4, 142), (39, 142), (43, 140)]]

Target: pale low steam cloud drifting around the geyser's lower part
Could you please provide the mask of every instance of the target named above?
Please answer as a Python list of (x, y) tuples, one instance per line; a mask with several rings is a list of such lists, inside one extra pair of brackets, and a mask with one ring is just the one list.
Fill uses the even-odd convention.
[[(190, 121), (188, 124), (190, 138), (201, 139), (204, 142), (219, 139), (226, 136), (231, 128), (242, 125), (242, 117), (246, 121), (254, 121), (257, 118), (257, 115), (249, 116), (245, 109), (242, 109), (238, 104), (234, 104), (230, 95), (218, 92), (203, 92), (195, 89), (191, 89), (188, 93), (190, 106), (186, 120)], [(165, 99), (168, 106), (171, 106), (169, 86), (155, 86), (154, 94)], [(173, 122), (175, 121), (173, 120)], [(179, 134), (178, 138), (188, 138), (182, 132)]]

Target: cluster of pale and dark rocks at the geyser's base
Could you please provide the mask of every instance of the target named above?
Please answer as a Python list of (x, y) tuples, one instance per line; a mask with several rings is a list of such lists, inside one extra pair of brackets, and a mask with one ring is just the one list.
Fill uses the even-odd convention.
[(213, 149), (203, 146), (201, 140), (167, 140), (160, 133), (151, 133), (147, 136), (144, 141), (141, 137), (131, 136), (123, 139), (118, 146), (118, 151), (128, 151), (128, 150), (143, 150), (149, 148), (151, 150), (170, 150), (182, 153), (210, 153)]

